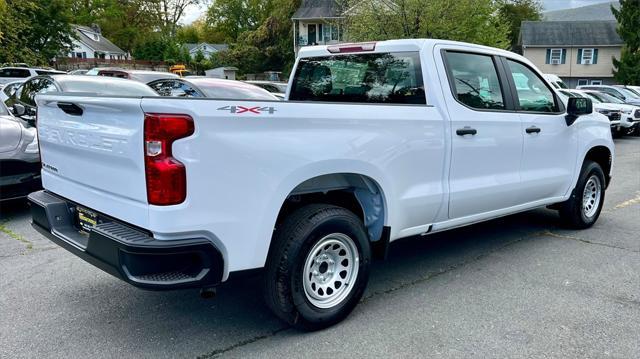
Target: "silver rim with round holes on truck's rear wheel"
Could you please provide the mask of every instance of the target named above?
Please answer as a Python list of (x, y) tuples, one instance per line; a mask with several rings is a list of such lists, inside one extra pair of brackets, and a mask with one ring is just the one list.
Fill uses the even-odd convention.
[(351, 237), (332, 233), (309, 251), (304, 264), (304, 294), (318, 308), (332, 308), (351, 293), (358, 278), (358, 247)]

